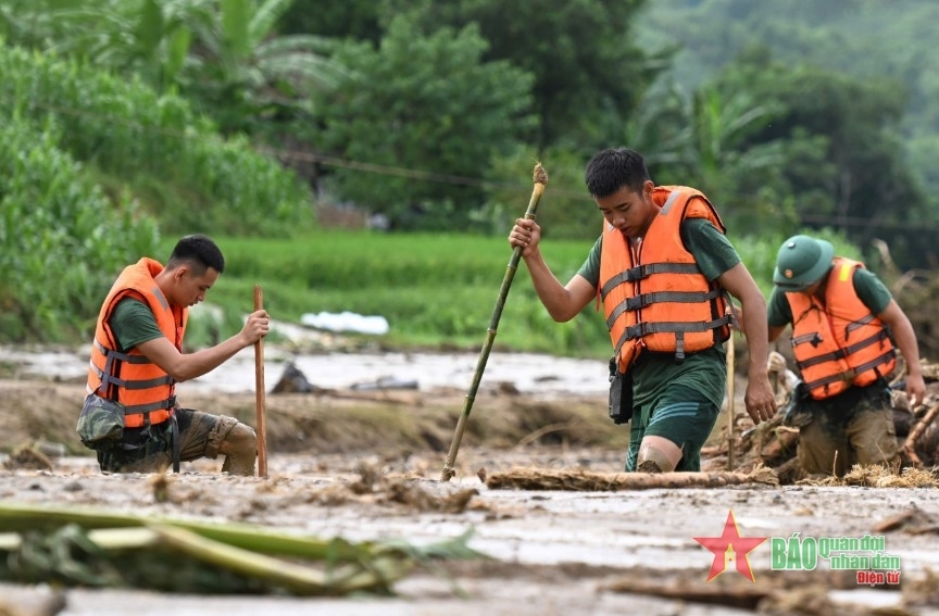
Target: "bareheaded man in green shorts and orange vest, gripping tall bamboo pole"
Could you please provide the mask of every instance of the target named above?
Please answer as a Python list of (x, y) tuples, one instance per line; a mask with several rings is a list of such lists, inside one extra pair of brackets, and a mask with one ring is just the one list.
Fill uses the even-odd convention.
[(626, 470), (700, 470), (701, 447), (725, 395), (724, 342), (733, 320), (727, 292), (746, 309), (747, 412), (758, 424), (776, 413), (763, 294), (704, 194), (656, 187), (638, 152), (598, 152), (586, 184), (603, 214), (602, 234), (567, 285), (542, 259), (535, 221), (517, 219), (509, 242), (522, 247), (535, 291), (554, 320), (602, 302), (613, 344), (611, 380), (625, 382), (623, 402), (611, 391), (611, 416), (616, 423), (631, 417)]

